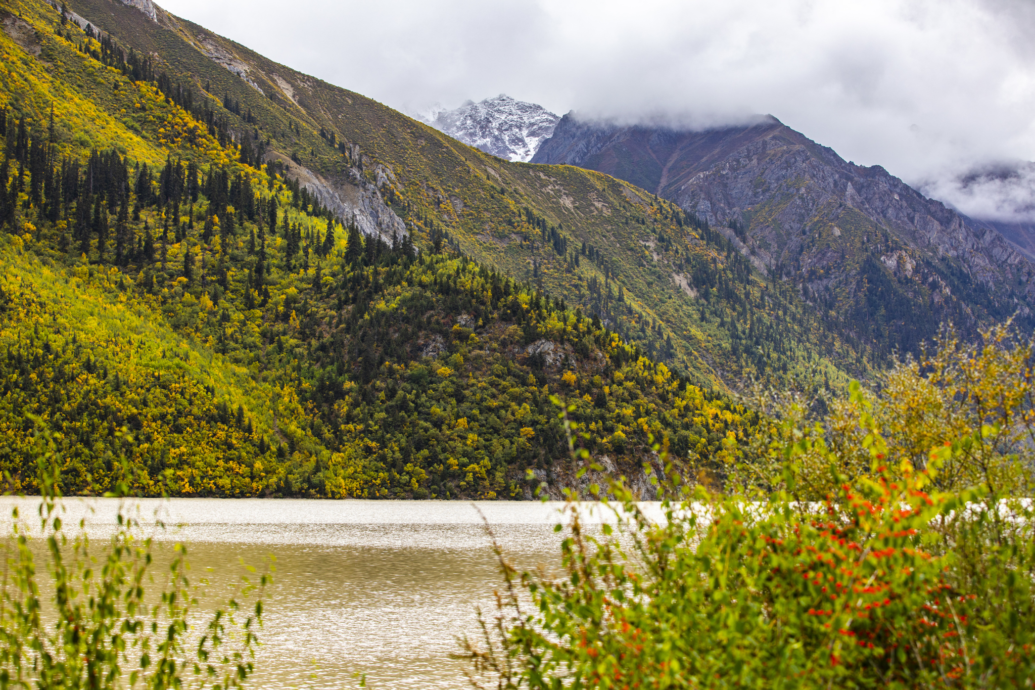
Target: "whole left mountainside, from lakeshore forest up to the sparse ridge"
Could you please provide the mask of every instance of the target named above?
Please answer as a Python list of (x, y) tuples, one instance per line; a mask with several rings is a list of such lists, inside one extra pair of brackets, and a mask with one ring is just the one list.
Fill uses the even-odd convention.
[(646, 489), (654, 440), (719, 475), (749, 447), (746, 378), (873, 371), (642, 188), (486, 154), (146, 0), (64, 7), (0, 7), (11, 490), (47, 443), (75, 492), (522, 498), (532, 471), (557, 496), (554, 396)]

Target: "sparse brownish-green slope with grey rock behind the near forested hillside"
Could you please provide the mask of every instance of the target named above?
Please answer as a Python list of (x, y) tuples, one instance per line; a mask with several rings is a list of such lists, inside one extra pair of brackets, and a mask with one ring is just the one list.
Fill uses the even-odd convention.
[(233, 138), (249, 134), (273, 170), (338, 217), (386, 241), (400, 228), (418, 246), (437, 237), (541, 284), (702, 386), (748, 376), (844, 385), (848, 369), (868, 369), (860, 343), (792, 306), (791, 293), (775, 296), (737, 267), (724, 238), (633, 185), (501, 160), (160, 8), (157, 21), (116, 0), (72, 8), (120, 46), (160, 56), (184, 92), (221, 101)]

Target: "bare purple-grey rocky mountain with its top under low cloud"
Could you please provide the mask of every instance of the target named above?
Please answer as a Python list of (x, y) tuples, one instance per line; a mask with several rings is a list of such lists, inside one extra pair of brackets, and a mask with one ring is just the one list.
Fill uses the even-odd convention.
[(1032, 260), (996, 227), (771, 116), (682, 131), (568, 114), (532, 160), (614, 175), (722, 228), (842, 336), (879, 352), (916, 352), (949, 321), (973, 333), (1016, 312), (1035, 325)]

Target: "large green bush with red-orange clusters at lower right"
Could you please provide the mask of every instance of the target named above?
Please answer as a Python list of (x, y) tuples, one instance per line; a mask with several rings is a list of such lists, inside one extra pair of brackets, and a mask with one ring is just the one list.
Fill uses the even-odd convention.
[(1032, 687), (1031, 361), (1005, 328), (973, 352), (946, 339), (880, 397), (854, 385), (822, 424), (792, 401), (770, 464), (731, 469), (727, 493), (670, 463), (663, 521), (621, 479), (617, 528), (587, 531), (572, 504), (562, 574), (501, 559), (496, 619), (466, 640), (472, 680)]

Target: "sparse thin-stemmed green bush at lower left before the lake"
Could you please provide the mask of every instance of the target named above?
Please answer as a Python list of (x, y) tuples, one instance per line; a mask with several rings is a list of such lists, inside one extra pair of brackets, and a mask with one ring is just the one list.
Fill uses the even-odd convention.
[[(234, 597), (213, 610), (201, 607), (183, 545), (160, 572), (146, 526), (124, 507), (115, 534), (99, 544), (83, 522), (69, 534), (57, 488), (62, 458), (48, 437), (37, 442), (38, 527), (14, 508), (13, 534), (4, 542), (0, 689), (242, 687), (254, 671), (269, 573), (242, 578)], [(125, 497), (127, 484), (117, 486), (109, 496)], [(43, 563), (34, 540), (46, 546)]]

